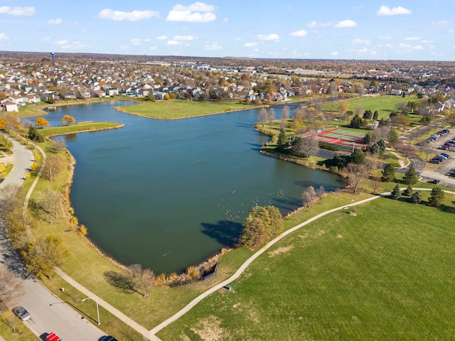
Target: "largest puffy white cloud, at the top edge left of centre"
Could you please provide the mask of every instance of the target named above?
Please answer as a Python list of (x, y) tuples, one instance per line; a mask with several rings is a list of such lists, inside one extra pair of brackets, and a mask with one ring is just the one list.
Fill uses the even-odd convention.
[(216, 19), (215, 6), (195, 2), (190, 6), (177, 4), (169, 11), (166, 21), (186, 21), (189, 23), (208, 23)]

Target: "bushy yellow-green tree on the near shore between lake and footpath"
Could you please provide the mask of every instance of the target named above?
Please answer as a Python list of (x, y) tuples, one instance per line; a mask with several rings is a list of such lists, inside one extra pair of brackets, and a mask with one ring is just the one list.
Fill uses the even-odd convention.
[(284, 229), (283, 218), (277, 207), (255, 206), (243, 223), (240, 244), (259, 247), (274, 233)]

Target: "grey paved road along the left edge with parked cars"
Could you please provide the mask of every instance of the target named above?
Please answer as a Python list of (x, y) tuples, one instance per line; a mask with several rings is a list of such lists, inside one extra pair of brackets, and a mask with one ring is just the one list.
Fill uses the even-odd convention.
[[(5, 191), (6, 186), (22, 185), (22, 179), (33, 162), (31, 151), (16, 141), (13, 143), (14, 168), (0, 184), (0, 197), (8, 195)], [(6, 238), (4, 229), (1, 228), (4, 223), (0, 221), (0, 267), (1, 270), (12, 271), (23, 279), (26, 294), (18, 299), (17, 304), (23, 305), (31, 313), (31, 319), (26, 321), (28, 328), (37, 336), (41, 336), (42, 340), (46, 332), (56, 332), (65, 341), (100, 340), (103, 332), (87, 320), (82, 320), (80, 313), (70, 308), (70, 299), (68, 304), (65, 304), (35, 278), (26, 276), (26, 270), (11, 247), (9, 239)]]

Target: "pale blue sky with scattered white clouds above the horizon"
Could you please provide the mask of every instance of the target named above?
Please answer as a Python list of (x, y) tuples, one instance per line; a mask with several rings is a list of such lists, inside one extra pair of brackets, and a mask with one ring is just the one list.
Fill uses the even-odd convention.
[(0, 50), (454, 60), (455, 0), (0, 0)]

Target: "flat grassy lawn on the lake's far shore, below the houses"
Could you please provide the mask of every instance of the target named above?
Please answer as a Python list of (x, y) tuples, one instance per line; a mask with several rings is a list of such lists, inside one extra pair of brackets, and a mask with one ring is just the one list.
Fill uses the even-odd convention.
[(232, 112), (235, 110), (252, 109), (255, 106), (239, 102), (199, 102), (182, 99), (168, 101), (141, 102), (139, 105), (119, 107), (124, 112), (155, 119), (182, 119), (186, 117)]

